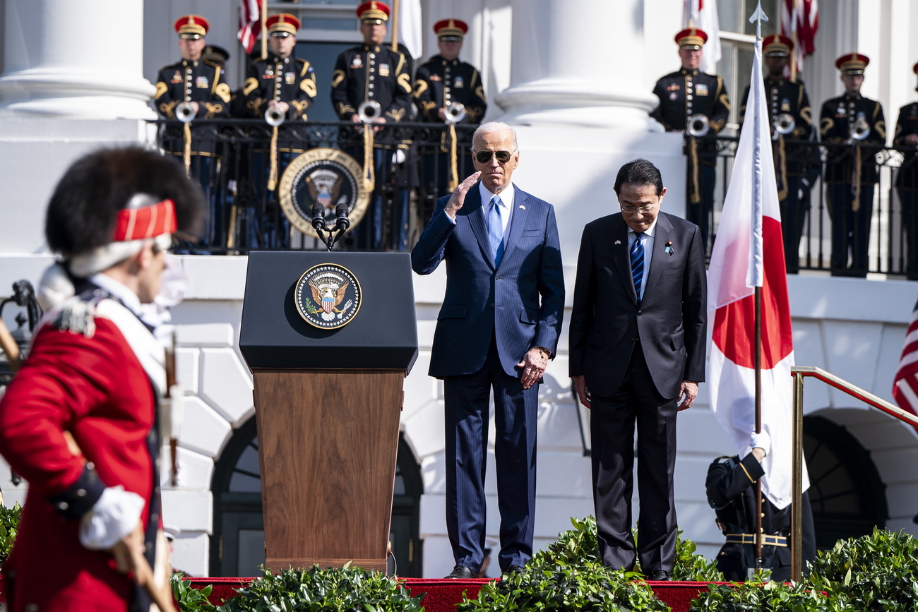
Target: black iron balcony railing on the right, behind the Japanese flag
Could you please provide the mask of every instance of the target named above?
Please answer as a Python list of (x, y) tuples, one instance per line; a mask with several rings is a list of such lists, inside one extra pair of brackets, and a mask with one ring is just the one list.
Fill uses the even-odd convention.
[[(735, 137), (717, 139), (717, 188), (709, 211), (713, 228), (709, 250), (737, 143)], [(789, 187), (797, 196), (791, 194), (784, 200), (782, 230), (792, 232), (796, 223), (800, 233), (797, 252), (785, 241), (788, 268), (796, 263), (800, 270), (831, 271), (840, 276), (886, 273), (918, 278), (918, 220), (914, 212), (918, 206), (918, 150), (858, 146), (859, 167), (852, 163), (856, 156), (850, 144), (786, 140), (778, 190)], [(782, 156), (775, 153), (774, 159), (778, 167)], [(856, 181), (857, 172), (860, 181)], [(851, 210), (856, 195), (859, 216)], [(792, 212), (795, 209), (796, 213)], [(863, 265), (856, 261), (858, 243), (867, 245)]]

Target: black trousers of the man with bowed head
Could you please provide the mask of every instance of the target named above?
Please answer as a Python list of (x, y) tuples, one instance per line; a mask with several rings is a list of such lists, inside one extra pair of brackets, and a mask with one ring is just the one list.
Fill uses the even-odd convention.
[[(610, 397), (593, 395), (593, 502), (599, 556), (607, 567), (632, 569), (637, 558), (644, 573), (673, 571), (676, 413), (677, 397), (657, 392), (639, 342), (618, 390)], [(636, 548), (631, 531), (635, 423), (641, 497)]]

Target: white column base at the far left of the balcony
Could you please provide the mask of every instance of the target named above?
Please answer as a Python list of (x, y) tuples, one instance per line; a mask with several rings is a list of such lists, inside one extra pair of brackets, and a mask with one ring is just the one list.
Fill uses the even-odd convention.
[(142, 0), (6, 0), (0, 116), (146, 119)]

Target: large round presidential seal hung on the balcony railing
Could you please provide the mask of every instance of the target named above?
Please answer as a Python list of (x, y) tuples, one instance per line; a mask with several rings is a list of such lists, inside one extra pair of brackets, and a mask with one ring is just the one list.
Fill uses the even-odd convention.
[(351, 228), (364, 218), (370, 192), (363, 168), (338, 149), (310, 149), (290, 162), (281, 177), (278, 192), (281, 208), (290, 224), (312, 238), (322, 238), (312, 227), (312, 208), (325, 207), (325, 223), (335, 227), (335, 209), (347, 206)]

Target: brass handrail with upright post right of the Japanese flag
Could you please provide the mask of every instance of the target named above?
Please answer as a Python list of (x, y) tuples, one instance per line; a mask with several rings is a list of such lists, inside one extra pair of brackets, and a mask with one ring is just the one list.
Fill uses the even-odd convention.
[(802, 526), (802, 507), (800, 498), (803, 495), (803, 379), (815, 378), (823, 381), (839, 391), (859, 399), (860, 401), (882, 410), (890, 417), (896, 417), (899, 420), (918, 428), (918, 417), (909, 412), (902, 410), (899, 406), (893, 406), (877, 395), (868, 393), (860, 387), (848, 383), (843, 378), (828, 373), (822, 368), (815, 366), (793, 366), (790, 368), (790, 375), (794, 377), (794, 395), (793, 395), (793, 478), (791, 484), (791, 532), (790, 532), (790, 579), (794, 582), (800, 581), (803, 569), (803, 551), (801, 544), (803, 541)]

